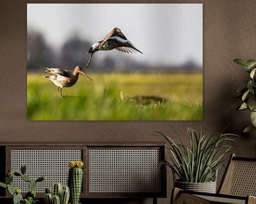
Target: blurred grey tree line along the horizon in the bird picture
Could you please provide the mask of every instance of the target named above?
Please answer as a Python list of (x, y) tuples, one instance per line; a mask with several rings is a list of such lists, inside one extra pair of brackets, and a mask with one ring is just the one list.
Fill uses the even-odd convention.
[[(28, 29), (27, 33), (27, 69), (28, 72), (41, 72), (43, 67), (60, 67), (62, 69), (73, 69), (75, 66), (85, 68), (90, 54), (87, 54), (93, 42), (83, 40), (78, 35), (71, 36), (58, 50), (49, 45), (44, 35), (38, 31)], [(172, 72), (180, 67), (151, 67), (150, 64), (137, 62), (132, 57), (100, 58), (98, 55), (92, 57), (90, 72)], [(188, 70), (189, 68), (189, 70)], [(198, 69), (196, 64), (189, 62), (183, 70), (188, 72)], [(200, 68), (200, 67), (199, 67)], [(181, 69), (179, 69), (181, 70)], [(201, 70), (201, 69), (199, 69)]]

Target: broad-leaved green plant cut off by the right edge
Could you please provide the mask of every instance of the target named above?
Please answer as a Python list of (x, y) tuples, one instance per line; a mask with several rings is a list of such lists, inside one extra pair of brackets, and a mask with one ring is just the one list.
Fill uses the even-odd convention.
[(246, 72), (249, 74), (249, 77), (246, 79), (246, 86), (242, 87), (242, 89), (238, 89), (238, 97), (241, 98), (242, 101), (237, 109), (239, 111), (250, 111), (252, 125), (243, 130), (243, 132), (250, 132), (256, 130), (256, 60), (235, 59), (233, 62), (245, 68)]

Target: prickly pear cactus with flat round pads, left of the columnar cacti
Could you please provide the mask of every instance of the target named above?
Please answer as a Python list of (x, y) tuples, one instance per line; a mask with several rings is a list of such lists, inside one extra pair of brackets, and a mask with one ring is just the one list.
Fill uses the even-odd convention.
[[(11, 183), (14, 181), (14, 176), (18, 176), (23, 181), (28, 182), (28, 193), (26, 193), (25, 197), (21, 195), (20, 188), (13, 188)], [(6, 183), (0, 182), (0, 186), (3, 188), (7, 188), (7, 191), (13, 196), (14, 204), (36, 204), (38, 200), (36, 199), (36, 186), (38, 182), (44, 181), (46, 179), (45, 176), (41, 176), (38, 179), (31, 179), (28, 175), (26, 175), (26, 165), (21, 165), (21, 172), (8, 172), (6, 176)]]

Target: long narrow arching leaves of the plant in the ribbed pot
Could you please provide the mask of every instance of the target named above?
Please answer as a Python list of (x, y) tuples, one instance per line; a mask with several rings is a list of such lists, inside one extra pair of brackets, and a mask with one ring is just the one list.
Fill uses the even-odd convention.
[[(173, 130), (174, 128), (171, 127)], [(170, 161), (162, 161), (160, 166), (166, 165), (178, 176), (179, 181), (187, 183), (205, 183), (215, 181), (215, 174), (223, 166), (225, 155), (232, 147), (226, 142), (236, 141), (238, 135), (217, 133), (210, 137), (203, 135), (201, 130), (196, 133), (188, 128), (190, 144), (185, 145), (181, 137), (174, 130), (178, 143), (164, 133), (157, 132), (163, 136), (168, 145), (166, 149), (171, 153)]]

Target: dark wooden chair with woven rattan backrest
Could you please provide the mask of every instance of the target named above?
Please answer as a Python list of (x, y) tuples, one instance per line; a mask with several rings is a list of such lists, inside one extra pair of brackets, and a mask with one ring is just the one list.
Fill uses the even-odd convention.
[(218, 193), (198, 193), (174, 188), (171, 204), (256, 203), (256, 159), (232, 154)]

